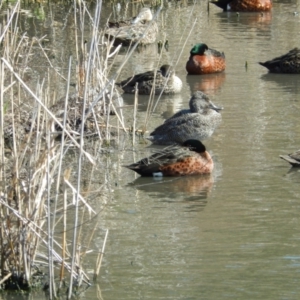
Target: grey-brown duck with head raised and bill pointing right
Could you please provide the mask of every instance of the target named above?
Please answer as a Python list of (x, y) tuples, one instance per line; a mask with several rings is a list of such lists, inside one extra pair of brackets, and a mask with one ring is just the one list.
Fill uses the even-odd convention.
[(155, 128), (147, 137), (153, 144), (182, 144), (189, 139), (209, 138), (222, 121), (222, 107), (215, 105), (201, 91), (196, 91), (189, 101), (190, 109), (183, 109)]

